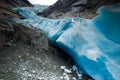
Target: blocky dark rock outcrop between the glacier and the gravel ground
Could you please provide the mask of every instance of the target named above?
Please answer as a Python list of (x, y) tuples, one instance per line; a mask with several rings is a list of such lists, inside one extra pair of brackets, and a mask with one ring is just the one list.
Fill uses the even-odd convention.
[(47, 37), (43, 31), (31, 29), (27, 26), (15, 23), (7, 19), (0, 19), (1, 47), (13, 40), (31, 46), (39, 46), (48, 49)]

